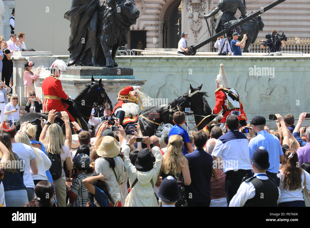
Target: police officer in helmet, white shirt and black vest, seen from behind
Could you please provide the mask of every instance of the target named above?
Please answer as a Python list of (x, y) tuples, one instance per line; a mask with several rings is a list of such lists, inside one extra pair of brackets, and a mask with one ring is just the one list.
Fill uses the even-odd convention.
[(277, 207), (280, 189), (275, 180), (268, 178), (268, 151), (260, 146), (251, 158), (254, 177), (242, 182), (237, 193), (229, 203), (229, 207)]

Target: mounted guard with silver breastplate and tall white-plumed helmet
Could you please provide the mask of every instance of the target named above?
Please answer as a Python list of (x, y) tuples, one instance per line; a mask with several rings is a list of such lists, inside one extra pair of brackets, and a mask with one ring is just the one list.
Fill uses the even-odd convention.
[(222, 118), (215, 118), (208, 123), (203, 130), (208, 133), (213, 126), (219, 123), (223, 123), (225, 125), (224, 122), (226, 122), (227, 116), (230, 115), (232, 111), (240, 111), (240, 115), (238, 116), (239, 123), (241, 126), (246, 126), (247, 118), (245, 112), (243, 111), (243, 105), (240, 101), (239, 94), (235, 89), (230, 88), (223, 63), (220, 64), (219, 74), (217, 75), (215, 82), (218, 89), (215, 90), (215, 105), (212, 110), (212, 114), (216, 115), (223, 110), (223, 113), (220, 116)]

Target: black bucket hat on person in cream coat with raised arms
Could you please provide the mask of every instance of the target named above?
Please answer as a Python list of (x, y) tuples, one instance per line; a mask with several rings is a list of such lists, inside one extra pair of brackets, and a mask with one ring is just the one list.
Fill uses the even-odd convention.
[(135, 168), (141, 172), (148, 172), (153, 169), (155, 157), (148, 149), (142, 149), (137, 154)]

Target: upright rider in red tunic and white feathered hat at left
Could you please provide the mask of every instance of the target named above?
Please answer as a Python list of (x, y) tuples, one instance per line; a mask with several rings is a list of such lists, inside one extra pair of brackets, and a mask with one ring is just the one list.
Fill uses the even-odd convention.
[(69, 100), (71, 96), (67, 95), (59, 80), (62, 71), (66, 70), (66, 63), (62, 60), (55, 60), (50, 67), (51, 74), (42, 82), (42, 90), (44, 93), (44, 100), (42, 103), (42, 112), (48, 113), (55, 109), (56, 112), (66, 111), (71, 121), (75, 121), (73, 116), (67, 111), (69, 105), (61, 101), (61, 99)]

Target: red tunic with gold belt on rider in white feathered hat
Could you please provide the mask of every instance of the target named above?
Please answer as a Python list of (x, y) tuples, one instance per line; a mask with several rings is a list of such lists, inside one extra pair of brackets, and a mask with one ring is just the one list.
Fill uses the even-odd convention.
[(42, 90), (44, 94), (44, 100), (42, 103), (42, 112), (48, 113), (50, 110), (55, 109), (56, 112), (66, 111), (71, 121), (75, 121), (73, 116), (67, 111), (69, 107), (66, 104), (64, 106), (60, 98), (68, 100), (69, 96), (63, 91), (60, 80), (53, 74), (45, 78), (42, 82)]

